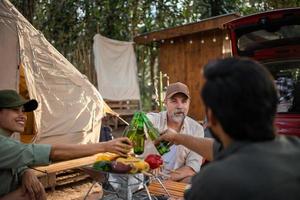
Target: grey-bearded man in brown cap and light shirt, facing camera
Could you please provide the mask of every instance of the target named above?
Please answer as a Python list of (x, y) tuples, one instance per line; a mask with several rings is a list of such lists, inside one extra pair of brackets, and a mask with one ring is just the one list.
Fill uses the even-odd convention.
[[(164, 100), (166, 111), (148, 113), (147, 116), (153, 125), (164, 132), (172, 129), (178, 134), (194, 137), (204, 137), (203, 127), (187, 116), (190, 106), (188, 87), (180, 82), (168, 86)], [(146, 141), (145, 153), (157, 153), (153, 143)], [(166, 172), (173, 181), (189, 182), (190, 178), (200, 171), (202, 157), (182, 145), (172, 145), (170, 151), (163, 155)]]

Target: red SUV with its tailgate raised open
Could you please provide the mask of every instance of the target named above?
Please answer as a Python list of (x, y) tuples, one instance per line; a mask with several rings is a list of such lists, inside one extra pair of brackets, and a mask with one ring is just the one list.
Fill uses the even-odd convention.
[(278, 133), (300, 136), (300, 8), (241, 17), (225, 24), (234, 56), (263, 63), (278, 89)]

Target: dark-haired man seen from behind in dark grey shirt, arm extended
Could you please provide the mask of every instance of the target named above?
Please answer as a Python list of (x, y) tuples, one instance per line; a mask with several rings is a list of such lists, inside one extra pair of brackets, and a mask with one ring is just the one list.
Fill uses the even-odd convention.
[[(207, 64), (204, 77), (208, 127), (223, 150), (193, 178), (185, 199), (300, 199), (300, 139), (276, 135), (271, 74), (253, 60), (226, 58)], [(162, 139), (199, 150), (193, 137), (167, 131)]]

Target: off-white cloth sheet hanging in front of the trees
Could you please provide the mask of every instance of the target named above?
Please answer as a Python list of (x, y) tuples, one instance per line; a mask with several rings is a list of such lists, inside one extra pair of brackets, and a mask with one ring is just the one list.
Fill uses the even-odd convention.
[(139, 100), (136, 57), (132, 42), (94, 36), (98, 89), (104, 99)]

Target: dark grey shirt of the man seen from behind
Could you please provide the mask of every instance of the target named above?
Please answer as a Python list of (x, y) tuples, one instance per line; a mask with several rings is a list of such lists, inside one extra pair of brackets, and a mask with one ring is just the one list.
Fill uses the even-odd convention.
[(300, 138), (234, 142), (194, 176), (187, 200), (300, 199)]

